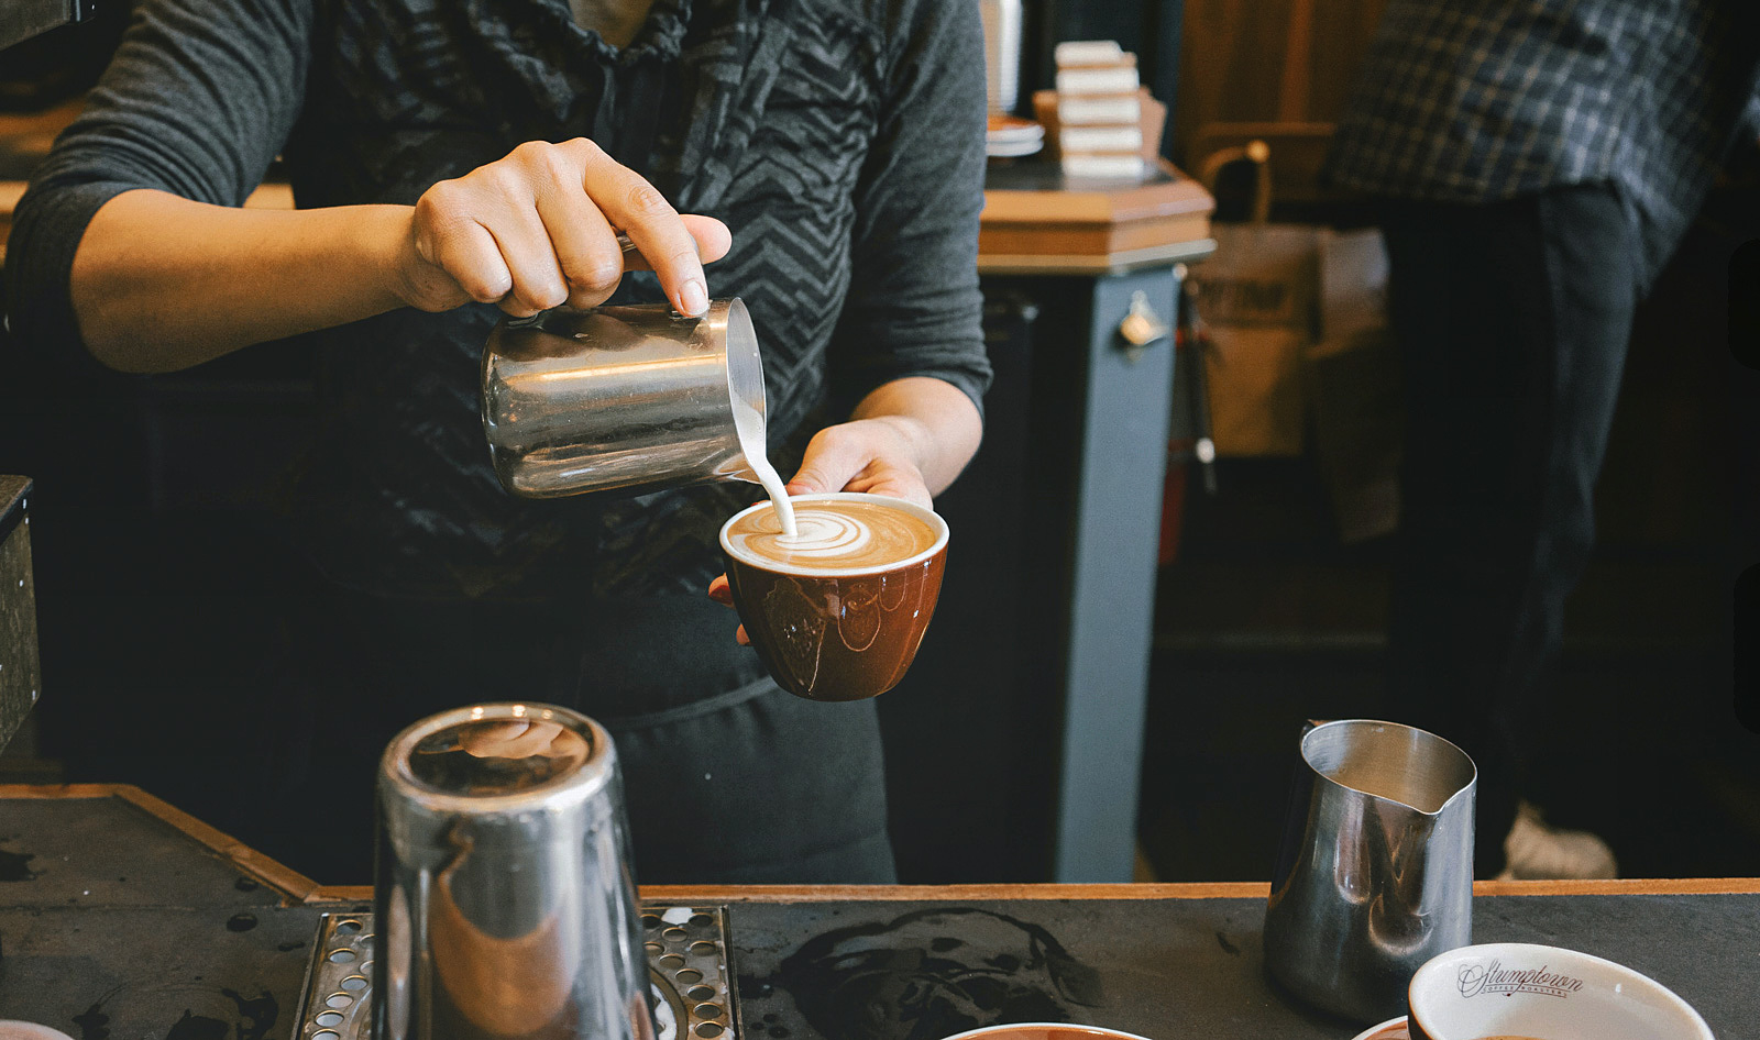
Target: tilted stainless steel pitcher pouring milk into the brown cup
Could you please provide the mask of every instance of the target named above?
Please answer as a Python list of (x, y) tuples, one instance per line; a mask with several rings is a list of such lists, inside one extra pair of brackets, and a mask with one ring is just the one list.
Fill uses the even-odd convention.
[(482, 429), (524, 498), (759, 482), (764, 366), (746, 306), (549, 310), (503, 320), (482, 352)]

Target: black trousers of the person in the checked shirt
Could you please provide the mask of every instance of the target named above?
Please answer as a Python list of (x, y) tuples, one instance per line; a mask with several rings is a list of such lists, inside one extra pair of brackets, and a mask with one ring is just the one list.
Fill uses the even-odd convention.
[(1542, 750), (1565, 598), (1595, 544), (1639, 289), (1609, 187), (1494, 204), (1389, 204), (1389, 311), (1406, 401), (1389, 630), (1397, 718), (1478, 764), (1477, 871)]

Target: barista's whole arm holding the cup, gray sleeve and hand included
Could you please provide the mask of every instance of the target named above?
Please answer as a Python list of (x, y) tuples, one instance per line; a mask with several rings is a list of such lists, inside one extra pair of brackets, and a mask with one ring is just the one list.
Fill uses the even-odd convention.
[(850, 290), (832, 333), (834, 403), (794, 486), (928, 505), (972, 459), (991, 370), (979, 294), (984, 32), (970, 5), (889, 7), (887, 97), (855, 187)]

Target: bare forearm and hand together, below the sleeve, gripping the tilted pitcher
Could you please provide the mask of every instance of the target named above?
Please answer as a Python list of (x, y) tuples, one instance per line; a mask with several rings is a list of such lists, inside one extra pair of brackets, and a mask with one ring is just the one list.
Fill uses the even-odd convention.
[(415, 206), (271, 211), (125, 192), (92, 218), (69, 290), (93, 357), (171, 371), (398, 306), (593, 306), (623, 276), (612, 225), (658, 257), (679, 311), (708, 306), (702, 262), (727, 252), (727, 229), (681, 218), (586, 139), (521, 144)]

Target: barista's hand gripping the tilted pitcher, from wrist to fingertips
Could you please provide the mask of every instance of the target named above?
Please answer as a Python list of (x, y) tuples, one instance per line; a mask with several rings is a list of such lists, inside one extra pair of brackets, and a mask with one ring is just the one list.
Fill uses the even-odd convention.
[[(618, 231), (641, 257), (625, 259)], [(702, 264), (732, 236), (713, 216), (679, 216), (635, 171), (586, 137), (528, 141), (505, 158), (428, 188), (400, 250), (400, 296), (442, 311), (495, 303), (514, 317), (604, 303), (625, 266), (651, 266), (679, 313), (709, 306)]]

